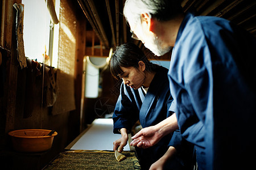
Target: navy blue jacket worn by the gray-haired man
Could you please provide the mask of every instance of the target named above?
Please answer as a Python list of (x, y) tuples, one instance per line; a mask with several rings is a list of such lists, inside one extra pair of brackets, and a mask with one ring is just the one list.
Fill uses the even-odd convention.
[(177, 106), (181, 134), (196, 146), (200, 169), (254, 166), (255, 64), (249, 33), (222, 18), (185, 15), (168, 73), (171, 108)]

